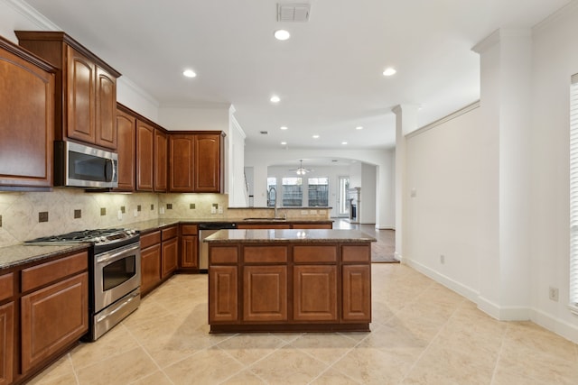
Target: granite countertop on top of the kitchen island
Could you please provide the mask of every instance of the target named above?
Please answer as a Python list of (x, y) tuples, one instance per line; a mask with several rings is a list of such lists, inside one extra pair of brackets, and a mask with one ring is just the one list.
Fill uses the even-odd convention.
[(219, 230), (205, 238), (219, 243), (359, 243), (377, 242), (358, 230)]

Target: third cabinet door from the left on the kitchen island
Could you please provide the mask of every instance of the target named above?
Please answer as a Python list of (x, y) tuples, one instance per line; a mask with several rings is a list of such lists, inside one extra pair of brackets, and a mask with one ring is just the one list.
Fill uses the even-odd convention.
[(294, 320), (337, 321), (337, 266), (294, 266)]

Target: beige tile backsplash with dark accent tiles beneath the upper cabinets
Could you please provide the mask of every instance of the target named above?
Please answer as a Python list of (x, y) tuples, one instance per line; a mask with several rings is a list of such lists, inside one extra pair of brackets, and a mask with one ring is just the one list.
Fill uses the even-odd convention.
[[(191, 209), (190, 203), (195, 203), (196, 208)], [(0, 247), (77, 230), (125, 227), (158, 217), (210, 216), (212, 203), (218, 203), (226, 211), (228, 196), (117, 194), (85, 192), (75, 188), (54, 188), (51, 192), (0, 192)], [(167, 210), (167, 206), (172, 206), (172, 209)]]

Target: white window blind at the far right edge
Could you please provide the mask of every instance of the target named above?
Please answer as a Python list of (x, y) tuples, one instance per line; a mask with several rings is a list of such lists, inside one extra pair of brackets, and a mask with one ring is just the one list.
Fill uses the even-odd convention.
[(578, 314), (578, 74), (570, 86), (570, 309)]

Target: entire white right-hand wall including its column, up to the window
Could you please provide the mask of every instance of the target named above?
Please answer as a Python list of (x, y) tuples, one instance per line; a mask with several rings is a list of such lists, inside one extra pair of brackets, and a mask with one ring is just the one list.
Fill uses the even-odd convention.
[[(523, 41), (517, 58), (504, 58), (509, 43), (482, 54), (480, 108), (407, 137), (406, 194), (415, 188), (415, 197), (404, 227), (404, 257), (418, 270), (479, 305), (483, 293), (498, 307), (517, 308), (574, 342), (568, 145), (576, 36), (573, 2), (533, 28), (531, 63), (518, 62), (519, 73), (512, 69), (527, 55)], [(521, 90), (529, 97), (516, 96)], [(559, 289), (559, 301), (548, 298), (550, 287)]]

